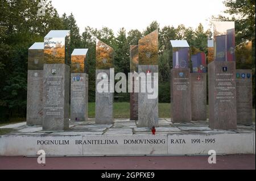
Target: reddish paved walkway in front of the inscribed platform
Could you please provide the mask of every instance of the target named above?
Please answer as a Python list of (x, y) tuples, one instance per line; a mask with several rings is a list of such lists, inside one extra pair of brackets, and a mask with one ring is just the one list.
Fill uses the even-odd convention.
[(207, 155), (137, 157), (48, 157), (39, 165), (37, 157), (0, 157), (0, 169), (254, 169), (254, 154), (217, 155), (209, 164)]

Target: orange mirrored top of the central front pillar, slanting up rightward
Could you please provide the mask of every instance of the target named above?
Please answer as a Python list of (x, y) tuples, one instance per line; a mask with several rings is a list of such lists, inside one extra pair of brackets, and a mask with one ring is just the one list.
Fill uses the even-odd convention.
[(158, 65), (158, 30), (139, 40), (139, 65)]

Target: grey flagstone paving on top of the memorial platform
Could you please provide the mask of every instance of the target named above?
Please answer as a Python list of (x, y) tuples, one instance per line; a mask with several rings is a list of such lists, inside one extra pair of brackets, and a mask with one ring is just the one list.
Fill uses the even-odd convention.
[[(70, 121), (68, 131), (44, 132), (40, 126), (26, 125), (26, 122), (9, 124), (0, 127), (13, 129), (8, 135), (122, 135), (122, 134), (152, 134), (151, 128), (137, 128), (136, 121), (129, 119), (116, 119), (113, 124), (96, 124), (95, 119), (89, 121)], [(208, 121), (191, 121), (191, 123), (171, 123), (169, 118), (159, 119), (159, 127), (156, 127), (156, 134), (173, 133), (255, 133), (253, 125), (237, 125), (234, 130), (210, 129)]]

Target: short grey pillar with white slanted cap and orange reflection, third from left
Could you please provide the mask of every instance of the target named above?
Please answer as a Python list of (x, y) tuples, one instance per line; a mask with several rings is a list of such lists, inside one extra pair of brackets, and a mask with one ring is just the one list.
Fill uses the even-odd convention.
[(71, 120), (88, 120), (88, 49), (74, 49), (71, 54)]

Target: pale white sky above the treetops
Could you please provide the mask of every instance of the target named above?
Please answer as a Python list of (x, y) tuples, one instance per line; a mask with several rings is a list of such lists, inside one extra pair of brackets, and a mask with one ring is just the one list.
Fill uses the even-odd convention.
[(212, 15), (224, 14), (224, 0), (51, 0), (61, 16), (75, 16), (80, 33), (86, 26), (111, 28), (116, 34), (124, 27), (143, 31), (156, 20), (160, 28), (184, 24), (196, 28), (202, 23), (209, 27)]

